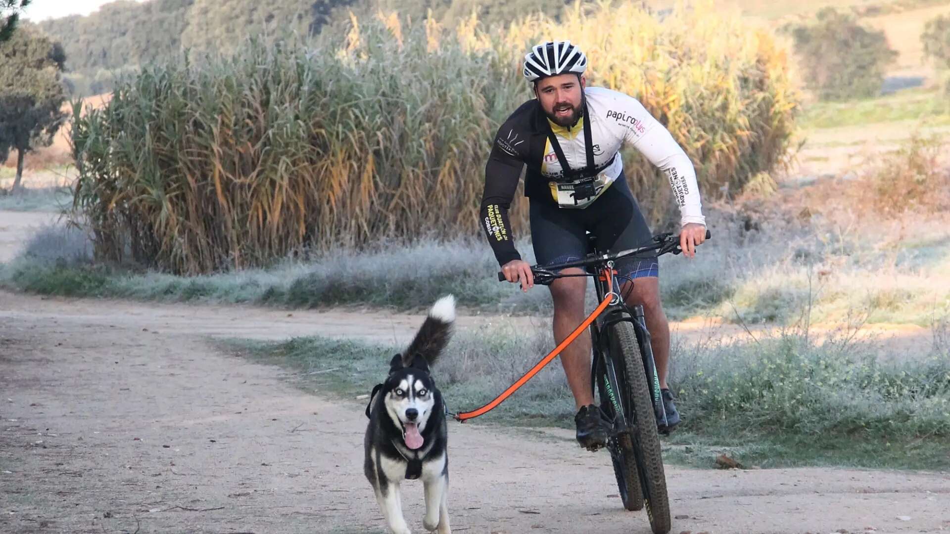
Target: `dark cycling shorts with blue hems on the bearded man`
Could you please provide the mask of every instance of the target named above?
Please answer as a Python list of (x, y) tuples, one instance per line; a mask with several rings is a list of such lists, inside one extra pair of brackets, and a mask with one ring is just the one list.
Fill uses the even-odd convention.
[[(599, 249), (607, 247), (610, 252), (637, 248), (653, 238), (622, 173), (586, 208), (561, 208), (556, 203), (534, 199), (530, 204), (531, 240), (539, 265), (586, 256), (586, 232), (597, 238)], [(659, 276), (656, 257), (621, 259), (616, 268), (620, 277)]]

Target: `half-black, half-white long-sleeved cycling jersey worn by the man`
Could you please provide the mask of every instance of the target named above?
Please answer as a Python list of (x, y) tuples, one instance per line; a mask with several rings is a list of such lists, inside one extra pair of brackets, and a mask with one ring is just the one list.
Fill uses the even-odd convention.
[[(584, 96), (583, 113), (573, 126), (549, 121), (532, 99), (515, 110), (495, 136), (485, 165), (480, 213), (500, 265), (521, 259), (509, 230), (508, 209), (524, 165), (524, 195), (532, 203), (584, 209), (618, 178), (623, 180), (618, 152), (624, 142), (666, 173), (682, 224), (706, 223), (693, 163), (670, 132), (631, 96), (603, 87), (587, 87)], [(591, 140), (590, 150), (585, 138)]]

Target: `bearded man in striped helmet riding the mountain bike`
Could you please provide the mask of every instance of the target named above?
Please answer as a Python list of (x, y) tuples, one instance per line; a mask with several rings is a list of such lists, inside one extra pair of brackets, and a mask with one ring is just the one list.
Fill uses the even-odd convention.
[[(695, 170), (670, 132), (636, 99), (603, 87), (588, 87), (587, 58), (569, 41), (538, 45), (524, 56), (524, 77), (535, 99), (521, 105), (499, 128), (485, 165), (481, 220), (495, 257), (509, 282), (523, 291), (534, 285), (530, 265), (515, 250), (508, 208), (527, 165), (524, 194), (530, 199), (531, 238), (539, 264), (580, 259), (587, 252), (586, 232), (611, 252), (647, 244), (652, 238), (623, 175), (618, 150), (631, 143), (662, 169), (673, 187), (682, 228), (684, 256), (694, 257), (706, 235)], [(670, 326), (659, 300), (659, 265), (654, 259), (621, 260), (621, 295), (640, 304), (650, 330), (656, 372), (672, 429), (679, 423), (666, 375)], [(564, 270), (564, 273), (580, 268)], [(550, 285), (554, 300), (554, 336), (558, 343), (584, 319), (586, 277), (558, 278)], [(574, 394), (581, 447), (606, 445), (590, 381), (591, 340), (584, 332), (561, 353), (567, 383)]]

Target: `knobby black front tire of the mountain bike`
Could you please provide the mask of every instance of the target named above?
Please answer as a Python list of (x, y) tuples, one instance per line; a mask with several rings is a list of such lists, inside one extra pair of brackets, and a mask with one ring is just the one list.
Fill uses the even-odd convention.
[(666, 489), (653, 400), (637, 344), (637, 334), (629, 321), (620, 321), (607, 328), (610, 329), (610, 351), (616, 356), (614, 361), (624, 368), (624, 390), (630, 399), (629, 406), (633, 408), (633, 413), (627, 414), (627, 424), (632, 429), (630, 437), (633, 439), (637, 473), (650, 528), (654, 534), (666, 534), (672, 527), (670, 498)]

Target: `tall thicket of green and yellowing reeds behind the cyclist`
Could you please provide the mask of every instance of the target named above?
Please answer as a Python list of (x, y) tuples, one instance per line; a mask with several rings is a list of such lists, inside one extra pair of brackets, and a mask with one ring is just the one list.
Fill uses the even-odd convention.
[[(146, 68), (103, 109), (77, 105), (76, 208), (97, 257), (130, 251), (180, 274), (433, 230), (475, 235), (492, 132), (529, 98), (523, 50), (563, 35), (587, 50), (593, 85), (637, 96), (670, 128), (704, 194), (784, 161), (797, 106), (785, 52), (711, 6), (660, 22), (603, 4), (505, 29), (353, 17), (310, 48), (249, 43)], [(674, 213), (656, 169), (627, 161), (653, 219)], [(513, 214), (524, 223), (523, 202)]]

